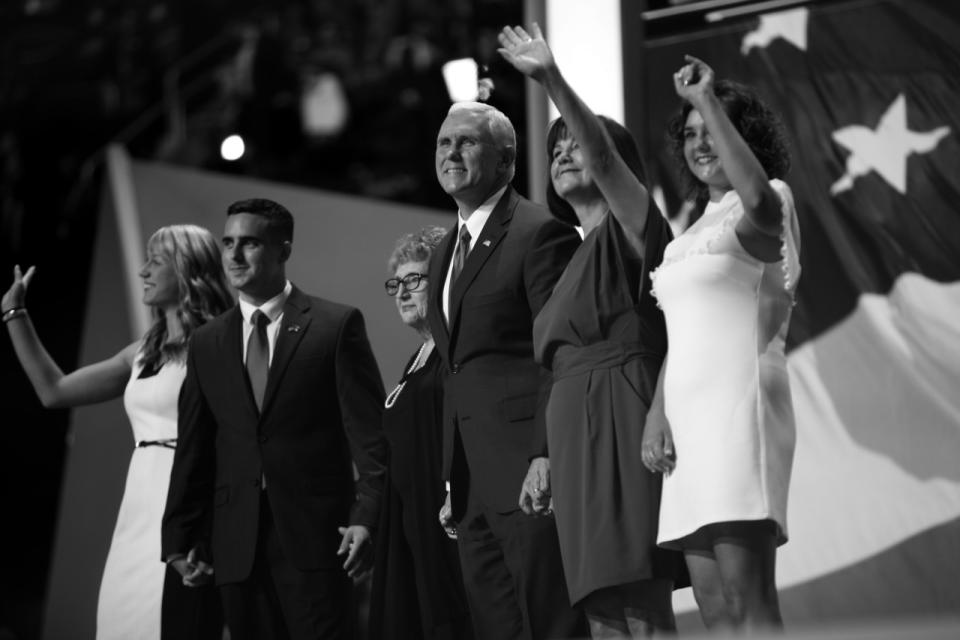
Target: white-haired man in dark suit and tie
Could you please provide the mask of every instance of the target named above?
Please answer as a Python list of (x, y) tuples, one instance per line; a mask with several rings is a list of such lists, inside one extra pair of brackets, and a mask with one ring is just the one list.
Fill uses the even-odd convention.
[(459, 218), (431, 260), (428, 305), (449, 370), (450, 493), (440, 520), (456, 529), (478, 638), (585, 637), (549, 512), (549, 379), (532, 345), (533, 319), (580, 238), (513, 191), (515, 161), (516, 135), (503, 113), (480, 103), (450, 109), (435, 162)]

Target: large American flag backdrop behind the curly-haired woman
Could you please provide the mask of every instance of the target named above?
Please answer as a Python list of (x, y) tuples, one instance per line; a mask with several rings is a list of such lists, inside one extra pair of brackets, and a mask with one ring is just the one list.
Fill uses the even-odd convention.
[(753, 85), (792, 141), (803, 275), (784, 616), (955, 616), (960, 3), (807, 3), (647, 41), (642, 103), (627, 107), (673, 215), (664, 131), (684, 53)]

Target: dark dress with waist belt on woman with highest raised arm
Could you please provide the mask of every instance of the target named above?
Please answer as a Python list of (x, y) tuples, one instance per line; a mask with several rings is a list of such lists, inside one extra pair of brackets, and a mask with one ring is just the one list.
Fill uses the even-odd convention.
[(644, 259), (624, 234), (608, 212), (533, 329), (537, 361), (553, 374), (547, 443), (572, 603), (604, 587), (683, 573), (682, 556), (656, 546), (661, 478), (640, 457), (667, 349), (648, 274), (672, 236), (652, 205)]

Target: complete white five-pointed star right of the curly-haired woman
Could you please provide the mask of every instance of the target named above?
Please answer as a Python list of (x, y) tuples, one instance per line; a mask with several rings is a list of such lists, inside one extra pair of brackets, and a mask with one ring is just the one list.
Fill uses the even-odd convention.
[(907, 194), (907, 157), (911, 153), (933, 151), (940, 140), (950, 133), (950, 127), (932, 131), (907, 129), (907, 101), (899, 94), (880, 117), (876, 129), (851, 125), (833, 132), (833, 139), (847, 150), (847, 170), (830, 187), (837, 195), (853, 187), (854, 179), (876, 171), (894, 189)]

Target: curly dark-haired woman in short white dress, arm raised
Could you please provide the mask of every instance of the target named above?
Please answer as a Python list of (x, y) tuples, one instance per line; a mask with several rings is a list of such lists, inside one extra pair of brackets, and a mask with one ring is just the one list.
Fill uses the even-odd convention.
[(800, 235), (779, 119), (687, 56), (674, 152), (703, 215), (652, 274), (669, 349), (643, 462), (665, 474), (658, 543), (681, 549), (708, 628), (782, 626), (795, 428), (784, 345)]

